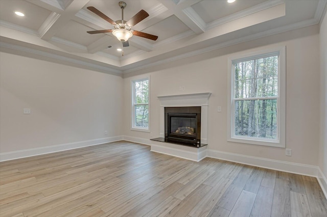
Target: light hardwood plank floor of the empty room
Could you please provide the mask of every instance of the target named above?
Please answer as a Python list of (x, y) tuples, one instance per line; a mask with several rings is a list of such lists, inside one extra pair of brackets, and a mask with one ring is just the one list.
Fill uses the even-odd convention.
[(316, 178), (115, 142), (0, 164), (0, 216), (327, 216)]

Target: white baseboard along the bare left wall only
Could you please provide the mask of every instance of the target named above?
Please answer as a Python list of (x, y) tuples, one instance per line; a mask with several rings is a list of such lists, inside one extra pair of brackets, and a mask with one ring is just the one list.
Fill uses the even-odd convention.
[(7, 160), (13, 160), (18, 158), (24, 158), (24, 157), (31, 157), (41, 154), (49, 154), (54, 153), (58, 151), (65, 151), (70, 149), (76, 149), (76, 148), (83, 148), (87, 146), (94, 146), (94, 145), (100, 145), (110, 142), (116, 142), (123, 140), (122, 135), (118, 135), (116, 137), (107, 137), (107, 138), (100, 138), (95, 140), (86, 140), (86, 141), (80, 141), (80, 142), (73, 142), (73, 143), (65, 143), (60, 145), (53, 145), (53, 146), (45, 146), (40, 148), (31, 148), (31, 149), (24, 149), (24, 150), (18, 150), (18, 151), (10, 151), (10, 152), (4, 152), (0, 153), (0, 161), (7, 161)]

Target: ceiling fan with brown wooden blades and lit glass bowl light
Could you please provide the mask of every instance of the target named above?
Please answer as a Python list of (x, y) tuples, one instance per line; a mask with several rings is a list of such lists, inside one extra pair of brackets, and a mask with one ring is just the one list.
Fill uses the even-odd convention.
[(149, 14), (145, 10), (139, 11), (137, 14), (135, 14), (132, 18), (130, 18), (128, 21), (124, 20), (124, 8), (126, 7), (125, 2), (119, 2), (119, 7), (122, 9), (122, 19), (113, 21), (109, 17), (107, 17), (105, 14), (103, 14), (101, 11), (96, 9), (95, 7), (87, 7), (88, 10), (92, 11), (93, 13), (97, 14), (102, 19), (106, 20), (107, 22), (111, 23), (114, 27), (112, 30), (96, 30), (96, 31), (88, 31), (88, 34), (99, 34), (99, 33), (111, 33), (123, 43), (123, 47), (129, 46), (128, 39), (130, 37), (139, 36), (151, 40), (157, 40), (158, 36), (151, 35), (148, 33), (139, 32), (136, 30), (132, 30), (132, 26), (136, 25), (137, 23), (141, 22), (145, 18), (149, 16)]

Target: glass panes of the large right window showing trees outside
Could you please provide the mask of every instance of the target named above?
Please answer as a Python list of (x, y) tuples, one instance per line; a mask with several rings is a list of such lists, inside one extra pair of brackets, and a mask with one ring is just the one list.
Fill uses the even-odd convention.
[(233, 63), (234, 133), (276, 139), (278, 56)]

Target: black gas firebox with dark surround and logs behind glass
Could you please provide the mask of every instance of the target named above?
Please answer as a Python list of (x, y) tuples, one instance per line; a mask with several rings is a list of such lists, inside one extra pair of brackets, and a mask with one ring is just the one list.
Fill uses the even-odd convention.
[(165, 107), (165, 138), (200, 144), (201, 106)]

